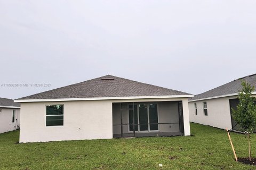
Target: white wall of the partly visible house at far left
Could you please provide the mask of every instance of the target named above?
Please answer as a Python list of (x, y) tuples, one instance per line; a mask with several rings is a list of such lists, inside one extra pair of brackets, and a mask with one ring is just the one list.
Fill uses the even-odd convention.
[[(1, 108), (0, 112), (0, 133), (13, 131), (20, 126), (20, 109), (19, 108)], [(15, 110), (15, 119), (12, 123), (12, 111)], [(17, 119), (17, 121), (16, 121)]]

